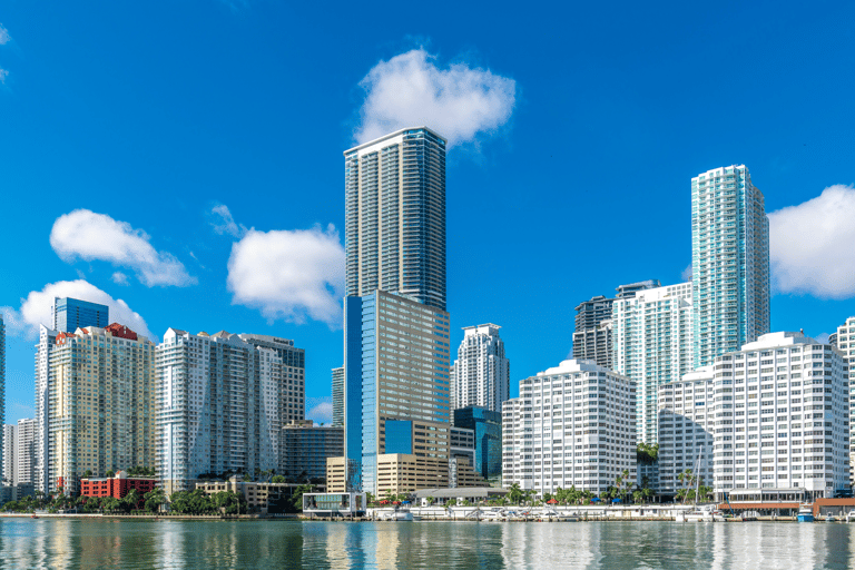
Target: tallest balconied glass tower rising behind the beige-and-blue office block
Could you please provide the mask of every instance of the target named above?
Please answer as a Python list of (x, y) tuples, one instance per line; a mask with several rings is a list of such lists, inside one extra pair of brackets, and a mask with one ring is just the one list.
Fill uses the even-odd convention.
[(401, 129), (344, 151), (346, 295), (445, 311), (445, 139)]

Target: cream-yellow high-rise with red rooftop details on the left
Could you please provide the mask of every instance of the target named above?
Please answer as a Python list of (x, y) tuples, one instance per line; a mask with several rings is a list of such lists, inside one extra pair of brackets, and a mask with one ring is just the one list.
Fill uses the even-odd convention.
[(155, 345), (127, 326), (60, 332), (49, 362), (48, 489), (154, 463)]

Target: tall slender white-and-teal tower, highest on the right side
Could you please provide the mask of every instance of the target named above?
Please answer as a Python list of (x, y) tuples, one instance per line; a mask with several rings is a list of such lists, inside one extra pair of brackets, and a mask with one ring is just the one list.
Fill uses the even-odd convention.
[(769, 332), (769, 219), (745, 165), (691, 179), (695, 365)]

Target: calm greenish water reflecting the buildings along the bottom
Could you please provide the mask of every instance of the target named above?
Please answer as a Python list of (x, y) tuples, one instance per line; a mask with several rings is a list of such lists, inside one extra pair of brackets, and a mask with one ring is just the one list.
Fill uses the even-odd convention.
[(855, 524), (0, 519), (0, 568), (855, 568)]

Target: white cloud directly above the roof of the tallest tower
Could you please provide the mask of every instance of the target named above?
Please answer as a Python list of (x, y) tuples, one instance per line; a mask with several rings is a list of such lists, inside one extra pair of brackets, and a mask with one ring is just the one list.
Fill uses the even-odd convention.
[(424, 49), (414, 49), (368, 71), (360, 82), (365, 89), (362, 124), (355, 134), (360, 142), (404, 127), (426, 126), (452, 147), (511, 118), (513, 79), (465, 63), (440, 69), (435, 59)]

